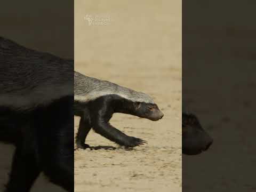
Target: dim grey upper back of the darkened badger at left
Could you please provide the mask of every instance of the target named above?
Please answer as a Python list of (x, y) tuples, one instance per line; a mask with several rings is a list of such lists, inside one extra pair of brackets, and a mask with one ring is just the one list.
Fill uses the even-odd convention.
[(73, 95), (73, 63), (0, 37), (0, 106), (33, 108)]

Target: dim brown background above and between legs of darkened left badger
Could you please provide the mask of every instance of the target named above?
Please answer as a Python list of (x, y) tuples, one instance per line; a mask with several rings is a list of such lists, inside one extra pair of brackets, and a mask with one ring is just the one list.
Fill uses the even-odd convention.
[[(2, 1), (0, 36), (37, 51), (74, 59), (73, 1)], [(0, 143), (0, 191), (11, 169), (14, 147)], [(26, 177), (26, 173), (24, 173)], [(65, 191), (42, 175), (32, 191)]]

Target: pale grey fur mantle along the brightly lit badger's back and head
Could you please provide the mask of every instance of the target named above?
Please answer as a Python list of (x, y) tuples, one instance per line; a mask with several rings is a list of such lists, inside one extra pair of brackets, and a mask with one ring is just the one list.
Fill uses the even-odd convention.
[(123, 86), (97, 78), (87, 77), (74, 72), (75, 101), (88, 102), (103, 95), (116, 94), (134, 102), (155, 103), (153, 99), (142, 92), (133, 91)]

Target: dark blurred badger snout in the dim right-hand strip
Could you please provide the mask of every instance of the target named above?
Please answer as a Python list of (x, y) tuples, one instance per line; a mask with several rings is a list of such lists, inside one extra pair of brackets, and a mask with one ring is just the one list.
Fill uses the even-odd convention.
[(213, 139), (202, 128), (194, 114), (182, 112), (182, 153), (197, 155), (207, 150)]

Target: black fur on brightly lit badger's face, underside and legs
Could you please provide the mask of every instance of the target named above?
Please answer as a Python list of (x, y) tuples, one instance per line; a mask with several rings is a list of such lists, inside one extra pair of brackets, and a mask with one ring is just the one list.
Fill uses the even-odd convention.
[[(115, 94), (102, 96), (86, 103), (75, 102), (74, 114), (81, 117), (76, 136), (77, 147), (89, 147), (85, 144), (85, 139), (91, 128), (96, 133), (121, 146), (135, 147), (143, 145), (146, 141), (122, 133), (110, 125), (109, 120), (114, 113), (124, 113), (142, 118), (151, 118), (156, 121), (155, 113), (158, 113), (158, 111), (159, 109), (155, 104), (132, 102)], [(163, 114), (158, 119), (162, 117)]]

